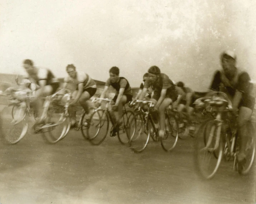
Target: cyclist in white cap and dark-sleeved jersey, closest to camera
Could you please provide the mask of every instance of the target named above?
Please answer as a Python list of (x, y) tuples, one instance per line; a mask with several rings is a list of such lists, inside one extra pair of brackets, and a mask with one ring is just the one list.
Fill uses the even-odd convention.
[(238, 136), (240, 136), (240, 152), (238, 154), (238, 170), (246, 163), (247, 131), (246, 122), (250, 120), (255, 98), (251, 96), (252, 84), (246, 71), (236, 67), (236, 55), (232, 51), (221, 54), (222, 70), (216, 71), (210, 89), (226, 93), (232, 101), (233, 110), (238, 113)]

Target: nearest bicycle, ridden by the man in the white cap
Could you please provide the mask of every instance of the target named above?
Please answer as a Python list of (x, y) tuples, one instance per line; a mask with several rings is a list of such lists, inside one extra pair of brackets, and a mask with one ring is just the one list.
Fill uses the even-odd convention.
[[(218, 94), (218, 93), (217, 93)], [(221, 93), (223, 95), (223, 93)], [(224, 154), (228, 161), (234, 159), (234, 170), (240, 174), (247, 174), (255, 158), (255, 133), (251, 121), (247, 122), (248, 140), (246, 145), (247, 163), (241, 171), (238, 168), (237, 154), (239, 153), (238, 134), (236, 124), (225, 117), (224, 113), (231, 113), (230, 101), (220, 97), (204, 97), (205, 110), (212, 114), (212, 118), (204, 121), (199, 127), (198, 138), (195, 143), (195, 161), (201, 175), (212, 179), (216, 175)], [(251, 151), (248, 153), (248, 150)], [(209, 161), (205, 161), (209, 159)]]

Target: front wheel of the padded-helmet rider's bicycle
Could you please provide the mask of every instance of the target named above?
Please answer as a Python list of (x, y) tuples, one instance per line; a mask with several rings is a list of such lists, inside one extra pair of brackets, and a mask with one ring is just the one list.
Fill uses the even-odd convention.
[[(140, 116), (142, 118), (143, 116)], [(139, 128), (136, 128), (135, 134), (130, 138), (129, 144), (130, 148), (139, 153), (143, 151), (148, 145), (150, 138), (150, 121), (142, 120)]]

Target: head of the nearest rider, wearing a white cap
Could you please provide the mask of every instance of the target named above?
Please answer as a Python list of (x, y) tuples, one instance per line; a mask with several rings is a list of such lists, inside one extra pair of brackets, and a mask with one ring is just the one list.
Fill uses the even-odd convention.
[(233, 51), (227, 50), (221, 54), (221, 65), (225, 75), (233, 76), (236, 71), (236, 55)]

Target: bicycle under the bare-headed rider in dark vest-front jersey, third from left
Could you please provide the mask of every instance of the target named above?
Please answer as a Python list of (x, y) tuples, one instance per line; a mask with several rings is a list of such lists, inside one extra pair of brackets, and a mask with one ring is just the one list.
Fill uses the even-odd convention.
[[(121, 117), (122, 124), (117, 125), (114, 123), (113, 115), (108, 108), (113, 104), (112, 100), (109, 98), (95, 98), (92, 102), (97, 100), (106, 101), (105, 108), (97, 108), (91, 115), (87, 129), (87, 136), (91, 144), (100, 145), (106, 138), (109, 124), (111, 122), (112, 128), (110, 131), (110, 136), (115, 136), (117, 133), (118, 139), (121, 144), (129, 143), (130, 138), (134, 135), (136, 129), (136, 120), (134, 117), (134, 112), (131, 110), (126, 110), (125, 106), (123, 109), (123, 114)], [(100, 136), (100, 130), (103, 130), (103, 134)]]

